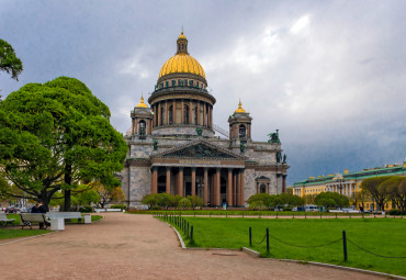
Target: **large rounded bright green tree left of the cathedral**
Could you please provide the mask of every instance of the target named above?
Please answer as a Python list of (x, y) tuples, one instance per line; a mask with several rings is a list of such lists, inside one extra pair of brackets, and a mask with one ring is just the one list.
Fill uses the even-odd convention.
[(7, 179), (45, 205), (64, 190), (66, 211), (79, 181), (119, 186), (114, 172), (122, 170), (127, 146), (109, 119), (109, 108), (77, 79), (60, 77), (12, 92), (0, 107)]

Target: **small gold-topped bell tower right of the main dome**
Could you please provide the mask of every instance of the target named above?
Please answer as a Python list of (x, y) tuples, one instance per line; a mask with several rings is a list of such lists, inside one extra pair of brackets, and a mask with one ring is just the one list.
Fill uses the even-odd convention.
[(252, 117), (243, 109), (241, 100), (238, 109), (228, 117), (229, 139), (233, 144), (247, 143), (251, 141), (251, 121)]

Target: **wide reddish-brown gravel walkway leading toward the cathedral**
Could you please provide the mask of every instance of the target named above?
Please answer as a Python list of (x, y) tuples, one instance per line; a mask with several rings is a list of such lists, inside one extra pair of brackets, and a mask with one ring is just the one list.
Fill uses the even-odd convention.
[(241, 251), (182, 250), (167, 224), (123, 213), (0, 251), (1, 279), (383, 279)]

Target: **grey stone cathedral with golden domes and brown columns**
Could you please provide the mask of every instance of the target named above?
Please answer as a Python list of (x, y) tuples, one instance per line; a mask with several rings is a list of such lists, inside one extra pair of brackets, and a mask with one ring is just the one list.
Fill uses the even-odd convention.
[(285, 192), (289, 166), (278, 131), (268, 142), (255, 142), (252, 117), (241, 102), (228, 117), (228, 132), (216, 126), (216, 99), (206, 88), (203, 67), (189, 55), (182, 32), (149, 107), (142, 97), (131, 112), (121, 172), (128, 208), (139, 208), (149, 193), (199, 195), (206, 206), (239, 208), (252, 194)]

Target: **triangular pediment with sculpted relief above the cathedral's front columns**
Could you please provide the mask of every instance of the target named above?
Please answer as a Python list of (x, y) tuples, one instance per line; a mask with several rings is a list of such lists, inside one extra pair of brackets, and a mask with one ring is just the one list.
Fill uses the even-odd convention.
[(163, 153), (156, 154), (153, 157), (225, 158), (225, 159), (243, 158), (240, 155), (235, 154), (232, 150), (227, 150), (225, 148), (218, 147), (204, 141), (199, 141), (192, 144), (187, 144), (177, 148), (172, 148)]

